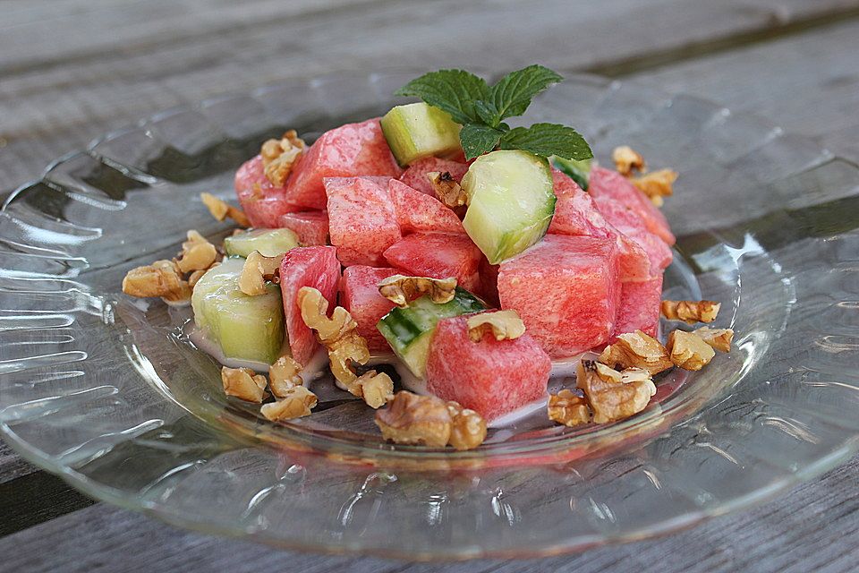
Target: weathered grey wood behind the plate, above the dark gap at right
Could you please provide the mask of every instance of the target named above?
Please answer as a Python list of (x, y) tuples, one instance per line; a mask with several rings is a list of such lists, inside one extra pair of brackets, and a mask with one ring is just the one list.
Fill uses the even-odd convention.
[[(225, 23), (234, 17), (230, 13), (204, 17), (191, 9), (208, 5), (206, 0), (171, 3), (188, 7), (161, 12), (162, 4), (150, 9), (146, 3), (94, 3), (99, 10), (67, 8), (63, 18), (47, 23), (30, 8), (33, 21), (0, 34), (0, 189), (37, 176), (47, 161), (101, 133), (225, 91), (355, 68), (503, 70), (540, 61), (600, 70), (634, 56), (679, 56), (715, 39), (834, 18), (859, 7), (857, 0), (337, 0), (334, 8), (307, 12), (304, 0), (299, 8), (277, 13), (275, 4), (293, 4), (272, 1), (242, 4), (246, 13), (233, 26)], [(130, 22), (122, 22), (126, 11)], [(171, 30), (166, 36), (147, 23), (161, 21), (165, 13)], [(515, 33), (506, 31), (511, 26)], [(57, 28), (63, 50), (35, 39)]]

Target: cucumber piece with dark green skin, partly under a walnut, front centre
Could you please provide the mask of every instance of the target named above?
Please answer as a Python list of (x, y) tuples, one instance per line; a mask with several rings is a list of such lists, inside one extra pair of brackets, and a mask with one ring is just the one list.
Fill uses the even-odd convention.
[(397, 307), (382, 317), (376, 328), (385, 337), (394, 354), (418, 378), (427, 375), (429, 341), (441, 319), (486, 310), (481, 299), (463, 288), (456, 288), (454, 300), (435, 304), (424, 295), (405, 308)]

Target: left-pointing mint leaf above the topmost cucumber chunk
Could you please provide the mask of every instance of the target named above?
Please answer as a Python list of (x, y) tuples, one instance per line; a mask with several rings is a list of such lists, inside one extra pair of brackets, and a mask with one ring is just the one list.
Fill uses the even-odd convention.
[(395, 95), (421, 98), (446, 111), (457, 124), (480, 123), (474, 102), (489, 98), (489, 86), (483, 78), (464, 70), (439, 70), (409, 81)]

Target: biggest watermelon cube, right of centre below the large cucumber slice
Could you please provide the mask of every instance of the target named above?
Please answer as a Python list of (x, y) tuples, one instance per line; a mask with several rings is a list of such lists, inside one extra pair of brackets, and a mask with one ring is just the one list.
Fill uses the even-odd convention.
[(617, 247), (599, 237), (546, 235), (498, 272), (501, 308), (519, 312), (552, 358), (605, 343), (619, 295)]

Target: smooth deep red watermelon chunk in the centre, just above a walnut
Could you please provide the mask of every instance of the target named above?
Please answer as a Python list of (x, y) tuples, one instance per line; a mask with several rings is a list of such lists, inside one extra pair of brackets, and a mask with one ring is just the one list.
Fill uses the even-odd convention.
[(474, 293), (480, 288), (478, 269), (483, 253), (468, 235), (415, 233), (392, 244), (385, 260), (412, 277), (455, 277), (459, 286)]

